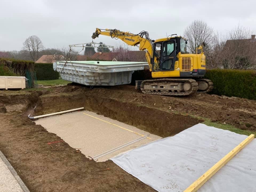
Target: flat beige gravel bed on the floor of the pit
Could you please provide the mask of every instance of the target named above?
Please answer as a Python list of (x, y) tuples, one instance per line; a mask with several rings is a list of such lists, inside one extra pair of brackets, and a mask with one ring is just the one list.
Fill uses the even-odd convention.
[[(154, 134), (142, 138), (149, 133), (90, 111), (75, 111), (40, 118), (35, 123), (42, 125), (47, 131), (57, 134), (71, 147), (79, 149), (86, 157), (92, 157), (99, 162), (161, 138)], [(141, 140), (119, 150), (110, 151), (135, 139)], [(106, 151), (110, 151), (110, 153), (94, 158)]]

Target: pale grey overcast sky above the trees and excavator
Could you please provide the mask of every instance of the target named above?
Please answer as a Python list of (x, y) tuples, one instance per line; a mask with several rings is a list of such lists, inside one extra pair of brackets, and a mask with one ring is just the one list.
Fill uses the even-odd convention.
[[(46, 48), (91, 42), (96, 27), (139, 33), (151, 39), (177, 33), (201, 19), (225, 34), (238, 24), (256, 31), (255, 0), (222, 1), (86, 1), (0, 0), (0, 50), (21, 50), (30, 35)], [(117, 45), (120, 40), (99, 36), (94, 42)]]

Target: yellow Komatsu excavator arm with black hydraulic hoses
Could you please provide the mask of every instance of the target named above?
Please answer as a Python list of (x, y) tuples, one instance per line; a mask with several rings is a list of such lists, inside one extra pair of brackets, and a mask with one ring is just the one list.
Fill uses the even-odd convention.
[[(110, 36), (111, 38), (121, 39), (123, 42), (131, 46), (138, 46), (139, 50), (146, 50), (145, 56), (149, 63), (150, 71), (152, 70), (151, 58), (153, 57), (152, 41), (146, 31), (141, 31), (139, 34), (132, 34), (130, 32), (123, 32), (117, 29), (98, 29), (91, 36), (93, 39), (99, 35)], [(158, 63), (157, 59), (155, 62)]]

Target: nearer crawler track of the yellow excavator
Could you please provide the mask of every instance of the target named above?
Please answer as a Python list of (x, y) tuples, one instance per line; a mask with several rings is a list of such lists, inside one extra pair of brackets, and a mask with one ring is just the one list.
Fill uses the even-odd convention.
[(194, 79), (153, 79), (142, 81), (140, 88), (145, 94), (185, 96), (197, 92), (198, 83)]

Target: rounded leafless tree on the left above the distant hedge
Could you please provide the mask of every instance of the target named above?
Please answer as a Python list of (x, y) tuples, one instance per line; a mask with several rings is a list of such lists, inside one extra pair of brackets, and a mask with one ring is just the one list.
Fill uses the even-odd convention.
[(37, 61), (39, 53), (43, 49), (43, 43), (36, 35), (32, 35), (23, 43), (23, 51), (29, 53), (30, 59)]

